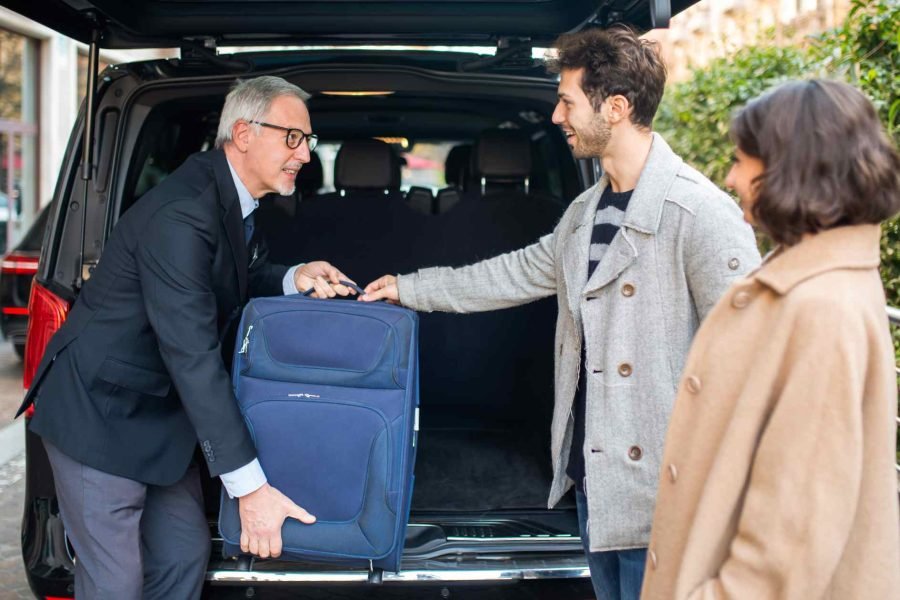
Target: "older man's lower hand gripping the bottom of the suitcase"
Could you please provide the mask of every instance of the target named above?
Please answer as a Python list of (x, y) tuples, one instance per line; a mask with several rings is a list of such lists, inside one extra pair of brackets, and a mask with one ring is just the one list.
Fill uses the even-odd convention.
[(281, 556), (281, 526), (288, 517), (311, 525), (316, 518), (294, 504), (290, 498), (264, 484), (255, 492), (238, 499), (241, 515), (241, 552), (260, 558)]

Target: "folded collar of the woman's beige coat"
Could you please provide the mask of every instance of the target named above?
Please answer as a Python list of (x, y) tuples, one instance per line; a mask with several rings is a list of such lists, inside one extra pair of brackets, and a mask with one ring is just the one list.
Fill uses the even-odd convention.
[(875, 269), (881, 261), (880, 237), (878, 225), (826, 229), (793, 246), (776, 248), (752, 277), (784, 295), (828, 271)]

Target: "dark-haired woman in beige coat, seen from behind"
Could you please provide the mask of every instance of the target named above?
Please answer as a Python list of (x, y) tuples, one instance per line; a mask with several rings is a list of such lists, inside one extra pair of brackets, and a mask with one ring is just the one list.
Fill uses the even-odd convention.
[(642, 598), (900, 598), (897, 382), (871, 103), (793, 82), (732, 123), (728, 185), (779, 244), (710, 311), (666, 438)]

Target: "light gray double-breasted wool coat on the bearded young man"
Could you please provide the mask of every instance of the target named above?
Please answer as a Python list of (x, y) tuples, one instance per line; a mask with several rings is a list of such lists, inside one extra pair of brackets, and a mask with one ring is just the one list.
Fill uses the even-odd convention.
[(622, 227), (590, 280), (588, 249), (603, 177), (537, 243), (461, 268), (402, 275), (400, 301), (468, 313), (556, 294), (553, 483), (571, 487), (572, 402), (586, 344), (583, 448), (592, 551), (647, 546), (663, 441), (700, 321), (733, 281), (759, 265), (734, 201), (653, 134)]

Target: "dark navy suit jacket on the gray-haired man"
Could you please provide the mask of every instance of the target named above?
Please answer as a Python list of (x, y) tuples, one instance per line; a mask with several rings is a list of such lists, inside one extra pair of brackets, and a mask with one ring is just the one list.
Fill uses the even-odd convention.
[(224, 152), (191, 156), (116, 224), (25, 398), (31, 430), (149, 484), (178, 481), (198, 440), (214, 476), (250, 462), (226, 361), (248, 288), (283, 293), (265, 254), (258, 234), (248, 253)]

